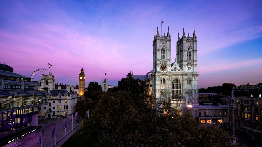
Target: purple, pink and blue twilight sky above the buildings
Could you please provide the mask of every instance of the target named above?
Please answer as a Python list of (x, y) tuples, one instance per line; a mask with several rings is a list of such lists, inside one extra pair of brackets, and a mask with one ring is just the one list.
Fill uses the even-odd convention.
[[(0, 61), (30, 76), (48, 69), (56, 82), (86, 86), (153, 69), (153, 37), (169, 26), (198, 40), (199, 88), (262, 82), (262, 1), (1, 1)], [(107, 75), (105, 75), (107, 73)], [(40, 80), (41, 73), (34, 78)]]

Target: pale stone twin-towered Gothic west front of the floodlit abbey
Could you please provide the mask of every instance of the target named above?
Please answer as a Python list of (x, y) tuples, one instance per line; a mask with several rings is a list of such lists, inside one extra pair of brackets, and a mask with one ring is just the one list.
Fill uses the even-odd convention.
[[(176, 60), (177, 59), (177, 60)], [(176, 59), (171, 62), (171, 36), (157, 34), (153, 41), (152, 93), (156, 103), (170, 100), (180, 114), (187, 104), (198, 105), (197, 36), (185, 36), (176, 42)]]

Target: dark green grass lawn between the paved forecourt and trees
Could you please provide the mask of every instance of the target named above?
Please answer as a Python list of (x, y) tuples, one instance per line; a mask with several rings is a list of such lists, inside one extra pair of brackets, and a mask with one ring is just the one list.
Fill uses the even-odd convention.
[(88, 141), (88, 138), (80, 135), (82, 129), (77, 130), (61, 147), (72, 146), (92, 146)]

